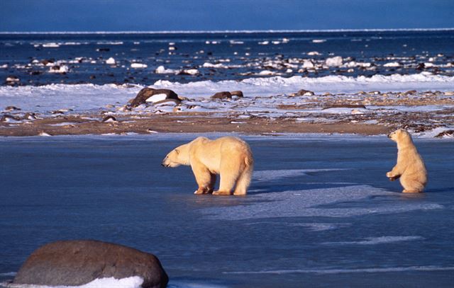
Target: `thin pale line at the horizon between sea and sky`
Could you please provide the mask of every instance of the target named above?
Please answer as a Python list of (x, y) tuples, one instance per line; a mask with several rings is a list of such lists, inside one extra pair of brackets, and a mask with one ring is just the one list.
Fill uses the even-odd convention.
[(333, 33), (333, 32), (399, 32), (450, 31), (452, 28), (365, 28), (365, 29), (306, 29), (306, 30), (124, 30), (124, 31), (0, 31), (0, 34), (197, 34), (197, 33)]

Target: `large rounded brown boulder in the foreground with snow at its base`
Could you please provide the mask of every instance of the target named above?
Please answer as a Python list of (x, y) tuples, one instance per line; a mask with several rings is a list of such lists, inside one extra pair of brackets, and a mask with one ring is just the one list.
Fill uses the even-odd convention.
[(13, 284), (79, 286), (96, 279), (143, 278), (143, 288), (163, 288), (169, 278), (155, 255), (93, 240), (57, 241), (35, 250)]

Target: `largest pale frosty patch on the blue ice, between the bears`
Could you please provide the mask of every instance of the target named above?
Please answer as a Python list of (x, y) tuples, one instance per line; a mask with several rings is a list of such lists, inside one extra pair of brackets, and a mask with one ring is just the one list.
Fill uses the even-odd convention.
[[(288, 175), (288, 174), (287, 174)], [(254, 191), (251, 191), (254, 192)], [(260, 192), (260, 190), (258, 191)], [(202, 214), (209, 219), (262, 219), (275, 217), (352, 217), (367, 214), (392, 214), (413, 210), (443, 209), (442, 205), (430, 202), (392, 202), (377, 207), (343, 207), (343, 202), (358, 202), (368, 197), (397, 197), (369, 185), (354, 185), (338, 188), (289, 190), (250, 195), (254, 202), (247, 206), (206, 208)]]

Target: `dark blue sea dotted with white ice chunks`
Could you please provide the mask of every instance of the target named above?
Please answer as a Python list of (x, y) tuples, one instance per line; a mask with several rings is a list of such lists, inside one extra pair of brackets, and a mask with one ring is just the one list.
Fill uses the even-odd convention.
[(453, 29), (0, 33), (0, 85), (454, 76), (453, 43)]

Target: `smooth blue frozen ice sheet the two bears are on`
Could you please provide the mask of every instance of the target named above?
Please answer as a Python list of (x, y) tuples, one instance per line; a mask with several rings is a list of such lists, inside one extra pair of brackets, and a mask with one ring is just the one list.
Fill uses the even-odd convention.
[(259, 173), (250, 193), (197, 197), (189, 167), (160, 166), (196, 136), (0, 137), (0, 272), (84, 235), (157, 255), (174, 288), (452, 286), (452, 141), (415, 139), (431, 178), (406, 195), (384, 175), (387, 137), (239, 135)]

